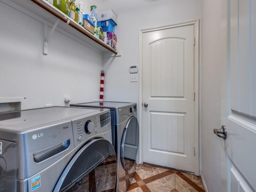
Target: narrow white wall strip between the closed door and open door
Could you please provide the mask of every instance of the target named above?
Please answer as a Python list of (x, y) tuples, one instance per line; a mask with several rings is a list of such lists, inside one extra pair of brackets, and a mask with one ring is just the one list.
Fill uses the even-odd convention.
[(202, 0), (202, 175), (209, 192), (220, 192), (220, 4)]

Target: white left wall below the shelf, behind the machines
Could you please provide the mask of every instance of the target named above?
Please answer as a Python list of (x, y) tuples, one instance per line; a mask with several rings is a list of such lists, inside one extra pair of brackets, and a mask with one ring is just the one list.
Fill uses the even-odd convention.
[(22, 109), (99, 99), (101, 54), (54, 31), (43, 55), (43, 23), (2, 2), (0, 23), (0, 98), (26, 98)]

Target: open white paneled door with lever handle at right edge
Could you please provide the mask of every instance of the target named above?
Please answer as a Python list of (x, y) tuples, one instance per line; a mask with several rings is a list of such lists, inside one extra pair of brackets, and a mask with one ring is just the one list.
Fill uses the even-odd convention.
[[(222, 192), (256, 191), (256, 1), (222, 2)], [(221, 136), (221, 135), (220, 135)]]

